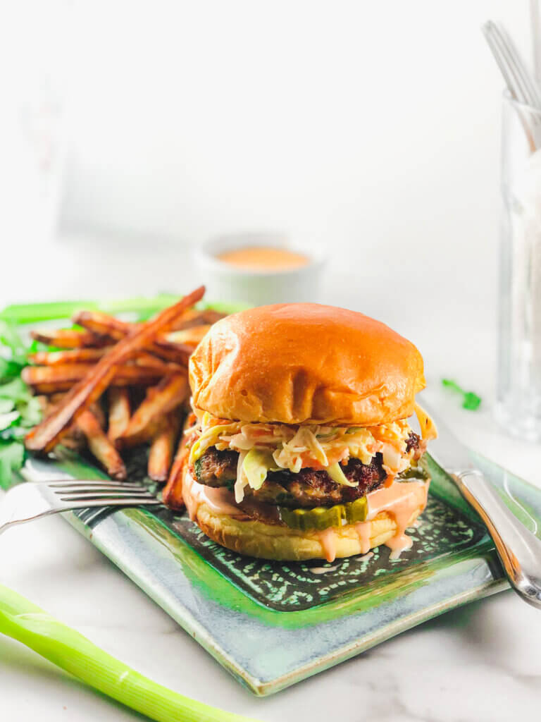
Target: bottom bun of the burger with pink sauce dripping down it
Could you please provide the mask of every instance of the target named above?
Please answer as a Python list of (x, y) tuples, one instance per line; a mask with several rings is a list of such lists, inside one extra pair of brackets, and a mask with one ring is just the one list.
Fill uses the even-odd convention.
[[(183, 481), (186, 499), (191, 493), (193, 482), (188, 466), (185, 466)], [(190, 508), (190, 504), (187, 505)], [(379, 544), (395, 539), (399, 544), (390, 544), (392, 548), (400, 548), (400, 542), (401, 548), (408, 548), (410, 543), (404, 537), (404, 529), (415, 521), (425, 505), (426, 493), (424, 499), (412, 507), (401, 529), (397, 529), (395, 515), (380, 511), (374, 518), (362, 523), (330, 527), (325, 531), (300, 531), (281, 524), (218, 513), (204, 501), (193, 506), (192, 518), (206, 536), (239, 554), (278, 561), (326, 559), (331, 562), (340, 557), (366, 554), (370, 549), (379, 547)]]

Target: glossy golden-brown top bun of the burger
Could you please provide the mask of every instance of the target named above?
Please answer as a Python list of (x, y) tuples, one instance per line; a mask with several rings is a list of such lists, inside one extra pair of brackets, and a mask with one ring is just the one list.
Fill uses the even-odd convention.
[(190, 357), (193, 404), (246, 422), (376, 426), (413, 414), (425, 386), (409, 341), (362, 313), (260, 306), (212, 326)]

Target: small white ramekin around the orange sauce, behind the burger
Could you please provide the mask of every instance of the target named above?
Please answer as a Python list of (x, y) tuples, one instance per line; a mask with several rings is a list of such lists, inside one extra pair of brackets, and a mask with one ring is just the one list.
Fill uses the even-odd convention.
[[(221, 261), (218, 256), (239, 248), (264, 246), (302, 253), (309, 259), (291, 269), (255, 271)], [(210, 301), (239, 302), (249, 305), (268, 303), (317, 302), (320, 295), (323, 253), (303, 247), (283, 233), (232, 233), (211, 238), (195, 251), (195, 261), (206, 285)]]

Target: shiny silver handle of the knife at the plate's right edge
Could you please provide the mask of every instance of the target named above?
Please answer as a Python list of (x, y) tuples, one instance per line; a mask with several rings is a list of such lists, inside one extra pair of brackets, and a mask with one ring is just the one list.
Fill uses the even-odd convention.
[(511, 513), (480, 471), (460, 471), (454, 479), (485, 522), (511, 586), (524, 601), (541, 609), (541, 539)]

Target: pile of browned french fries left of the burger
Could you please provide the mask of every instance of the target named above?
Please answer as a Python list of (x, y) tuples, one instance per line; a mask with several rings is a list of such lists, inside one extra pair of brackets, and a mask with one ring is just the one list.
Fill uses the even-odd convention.
[(223, 316), (193, 308), (203, 292), (198, 288), (144, 323), (80, 311), (72, 319), (80, 330), (33, 332), (59, 350), (30, 355), (32, 365), (22, 372), (44, 411), (27, 448), (48, 453), (60, 442), (84, 445), (110, 477), (123, 480), (121, 452), (149, 443), (149, 477), (172, 482), (182, 466), (188, 359)]

